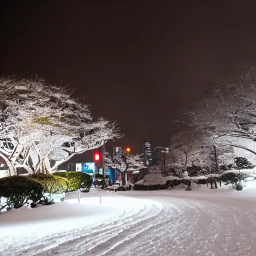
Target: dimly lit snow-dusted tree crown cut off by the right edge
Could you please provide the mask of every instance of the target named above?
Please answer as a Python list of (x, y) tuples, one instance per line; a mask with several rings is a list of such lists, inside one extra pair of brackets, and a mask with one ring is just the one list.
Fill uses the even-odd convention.
[(209, 83), (202, 95), (188, 101), (172, 121), (212, 137), (212, 145), (232, 146), (236, 155), (256, 155), (256, 68), (232, 70), (232, 78)]

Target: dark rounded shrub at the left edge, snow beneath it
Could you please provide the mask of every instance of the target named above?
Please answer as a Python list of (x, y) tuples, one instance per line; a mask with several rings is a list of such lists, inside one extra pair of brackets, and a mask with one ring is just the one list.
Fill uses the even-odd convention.
[(0, 178), (0, 198), (5, 198), (4, 203), (0, 204), (0, 210), (5, 207), (20, 208), (28, 203), (31, 207), (35, 207), (42, 195), (43, 186), (32, 178), (25, 176)]

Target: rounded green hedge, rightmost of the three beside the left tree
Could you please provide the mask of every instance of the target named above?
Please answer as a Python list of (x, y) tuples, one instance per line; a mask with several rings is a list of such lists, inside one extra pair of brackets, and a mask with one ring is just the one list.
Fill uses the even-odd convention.
[(92, 183), (92, 177), (89, 174), (81, 171), (61, 171), (53, 174), (67, 179), (67, 192), (77, 189), (81, 192), (89, 192)]

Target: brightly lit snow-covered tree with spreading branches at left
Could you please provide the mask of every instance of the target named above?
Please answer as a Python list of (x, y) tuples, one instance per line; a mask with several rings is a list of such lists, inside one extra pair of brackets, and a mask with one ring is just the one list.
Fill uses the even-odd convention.
[(41, 78), (0, 78), (0, 156), (16, 174), (53, 172), (74, 154), (120, 137), (116, 123), (93, 120), (88, 105)]

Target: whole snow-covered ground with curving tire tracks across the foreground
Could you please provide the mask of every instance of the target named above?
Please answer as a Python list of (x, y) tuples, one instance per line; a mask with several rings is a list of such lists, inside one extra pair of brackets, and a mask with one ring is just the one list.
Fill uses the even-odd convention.
[(0, 213), (0, 255), (256, 255), (255, 189), (81, 195)]

